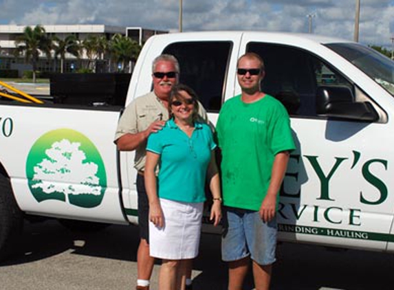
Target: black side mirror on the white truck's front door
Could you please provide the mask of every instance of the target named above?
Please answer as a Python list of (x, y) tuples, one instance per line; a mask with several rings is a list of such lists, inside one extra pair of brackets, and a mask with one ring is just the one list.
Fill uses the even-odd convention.
[(349, 87), (321, 86), (316, 92), (316, 113), (325, 117), (374, 122), (379, 115), (370, 102), (355, 102)]

